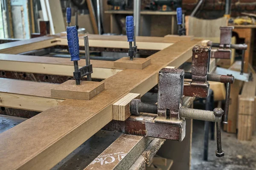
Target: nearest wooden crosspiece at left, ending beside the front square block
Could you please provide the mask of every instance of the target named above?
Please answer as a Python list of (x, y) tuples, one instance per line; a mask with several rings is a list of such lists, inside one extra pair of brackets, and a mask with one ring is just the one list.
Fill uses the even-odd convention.
[(46, 111), (64, 100), (52, 98), (50, 89), (56, 84), (0, 78), (0, 106)]

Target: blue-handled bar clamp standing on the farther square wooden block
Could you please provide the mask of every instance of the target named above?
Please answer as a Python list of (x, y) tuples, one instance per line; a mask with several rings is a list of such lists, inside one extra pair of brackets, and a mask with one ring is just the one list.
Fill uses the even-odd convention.
[[(127, 34), (127, 41), (129, 42), (129, 50), (128, 50), (128, 56), (131, 60), (135, 57), (137, 54), (137, 46), (136, 46), (136, 36), (134, 34), (134, 18), (133, 16), (127, 16), (126, 17), (126, 34)], [(134, 46), (132, 45), (132, 42), (134, 42)]]

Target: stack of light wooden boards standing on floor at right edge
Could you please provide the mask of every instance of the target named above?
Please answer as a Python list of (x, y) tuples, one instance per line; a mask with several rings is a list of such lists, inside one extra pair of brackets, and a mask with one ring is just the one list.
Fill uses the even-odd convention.
[(255, 130), (256, 115), (256, 73), (249, 65), (249, 71), (253, 73), (253, 81), (245, 82), (241, 95), (238, 97), (238, 133), (237, 139), (251, 140)]

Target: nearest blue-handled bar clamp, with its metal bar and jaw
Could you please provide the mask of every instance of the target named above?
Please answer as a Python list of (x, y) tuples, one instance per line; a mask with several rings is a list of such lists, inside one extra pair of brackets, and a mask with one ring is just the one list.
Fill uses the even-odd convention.
[(91, 74), (93, 73), (93, 66), (90, 64), (90, 52), (89, 52), (89, 42), (88, 36), (84, 36), (84, 50), (85, 50), (85, 61), (86, 65), (79, 68), (78, 61), (79, 58), (79, 38), (76, 26), (67, 27), (67, 45), (69, 48), (71, 61), (74, 62), (75, 71), (73, 72), (74, 79), (76, 80), (76, 85), (80, 85), (81, 77), (87, 76), (87, 80), (91, 81)]

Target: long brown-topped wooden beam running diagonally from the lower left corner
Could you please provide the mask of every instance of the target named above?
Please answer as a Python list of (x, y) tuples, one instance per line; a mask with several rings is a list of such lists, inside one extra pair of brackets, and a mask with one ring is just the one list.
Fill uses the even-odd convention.
[(114, 102), (132, 91), (145, 94), (157, 84), (161, 68), (180, 66), (200, 41), (179, 41), (151, 55), (152, 64), (145, 69), (125, 69), (105, 79), (105, 90), (93, 99), (67, 99), (1, 133), (3, 170), (51, 168), (112, 120)]

